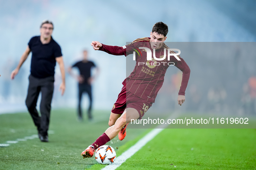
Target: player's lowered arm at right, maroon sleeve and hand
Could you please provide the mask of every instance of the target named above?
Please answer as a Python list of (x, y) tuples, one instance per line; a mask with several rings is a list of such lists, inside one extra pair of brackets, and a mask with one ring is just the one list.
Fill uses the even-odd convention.
[(185, 101), (185, 90), (188, 86), (188, 80), (190, 76), (190, 68), (188, 64), (180, 57), (180, 61), (178, 61), (176, 58), (175, 66), (182, 71), (182, 80), (181, 80), (181, 87), (178, 92), (178, 104), (181, 105)]

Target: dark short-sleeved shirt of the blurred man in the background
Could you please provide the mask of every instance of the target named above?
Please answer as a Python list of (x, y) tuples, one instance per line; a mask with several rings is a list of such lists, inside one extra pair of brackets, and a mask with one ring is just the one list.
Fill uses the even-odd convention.
[(80, 72), (80, 76), (84, 78), (82, 84), (88, 84), (88, 79), (91, 77), (91, 68), (95, 67), (95, 64), (91, 61), (79, 61), (72, 67), (77, 67)]

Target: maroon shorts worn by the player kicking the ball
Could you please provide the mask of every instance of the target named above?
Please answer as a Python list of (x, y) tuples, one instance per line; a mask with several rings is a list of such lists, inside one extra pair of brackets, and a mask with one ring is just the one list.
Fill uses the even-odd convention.
[(126, 108), (134, 108), (139, 113), (139, 119), (146, 113), (146, 111), (152, 106), (152, 102), (139, 98), (130, 91), (126, 91), (126, 86), (123, 86), (121, 92), (118, 94), (116, 103), (111, 110), (115, 114), (123, 114)]

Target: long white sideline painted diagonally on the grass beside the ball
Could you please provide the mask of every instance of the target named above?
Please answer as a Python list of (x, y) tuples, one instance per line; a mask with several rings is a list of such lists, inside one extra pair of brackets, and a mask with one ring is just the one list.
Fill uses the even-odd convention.
[[(178, 117), (178, 113), (174, 113), (172, 116), (169, 116), (168, 119), (175, 119)], [(165, 122), (167, 122), (165, 120)], [(102, 168), (101, 170), (115, 170), (117, 167), (119, 167), (123, 162), (126, 161), (126, 159), (130, 158), (135, 154), (139, 149), (141, 149), (143, 146), (145, 146), (150, 140), (152, 140), (156, 135), (158, 135), (164, 128), (166, 128), (169, 124), (161, 124), (156, 127), (156, 129), (153, 129), (150, 131), (146, 136), (144, 136), (142, 139), (140, 139), (135, 145), (133, 145), (131, 148), (129, 148), (127, 151), (123, 152), (115, 162), (111, 165), (107, 165), (106, 167)], [(161, 129), (160, 129), (161, 128)]]

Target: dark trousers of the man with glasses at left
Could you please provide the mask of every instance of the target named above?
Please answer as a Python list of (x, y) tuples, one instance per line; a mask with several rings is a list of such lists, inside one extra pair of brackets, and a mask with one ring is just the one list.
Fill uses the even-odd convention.
[[(37, 126), (37, 130), (42, 135), (48, 135), (47, 131), (49, 129), (50, 122), (50, 111), (52, 103), (52, 94), (54, 88), (54, 76), (46, 77), (43, 79), (38, 79), (29, 76), (29, 88), (26, 98), (26, 106), (29, 113)], [(36, 110), (36, 103), (41, 91), (42, 99), (40, 103), (40, 113)]]

